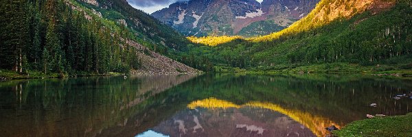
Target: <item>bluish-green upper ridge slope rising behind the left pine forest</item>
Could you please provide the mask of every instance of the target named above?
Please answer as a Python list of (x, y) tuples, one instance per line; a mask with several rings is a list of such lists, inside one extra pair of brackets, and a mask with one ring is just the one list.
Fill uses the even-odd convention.
[[(124, 25), (133, 33), (139, 43), (154, 51), (167, 54), (168, 50), (185, 50), (189, 43), (182, 34), (172, 27), (163, 25), (149, 14), (137, 10), (123, 0), (94, 0), (98, 5), (85, 4), (89, 9), (99, 12), (103, 18)], [(169, 49), (165, 49), (168, 47)]]

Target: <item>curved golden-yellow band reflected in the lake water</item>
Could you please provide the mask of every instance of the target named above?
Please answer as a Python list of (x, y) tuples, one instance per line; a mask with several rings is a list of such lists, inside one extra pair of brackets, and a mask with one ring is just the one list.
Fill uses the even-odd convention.
[(294, 121), (301, 123), (302, 125), (308, 127), (314, 134), (317, 136), (325, 136), (328, 134), (328, 131), (325, 130), (325, 127), (330, 125), (336, 125), (336, 127), (341, 128), (341, 125), (331, 121), (328, 118), (317, 116), (314, 114), (310, 114), (310, 112), (302, 112), (300, 110), (293, 110), (293, 109), (286, 109), (282, 108), (280, 105), (276, 105), (273, 103), (268, 102), (249, 102), (244, 105), (236, 105), (235, 103), (231, 103), (229, 101), (223, 101), (220, 99), (210, 98), (210, 99), (203, 99), (199, 101), (193, 101), (192, 103), (187, 105), (187, 108), (194, 109), (196, 107), (199, 108), (242, 108), (242, 107), (251, 107), (251, 108), (264, 108), (268, 110), (273, 110), (276, 112), (280, 112), (289, 116)]

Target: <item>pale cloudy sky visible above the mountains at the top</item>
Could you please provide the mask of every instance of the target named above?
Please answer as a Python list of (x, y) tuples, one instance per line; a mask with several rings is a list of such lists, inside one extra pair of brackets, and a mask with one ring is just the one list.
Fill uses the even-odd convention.
[[(176, 1), (190, 1), (190, 0), (127, 0), (130, 5), (139, 10), (143, 10), (148, 14), (152, 14), (157, 10), (168, 8), (170, 4)], [(262, 2), (263, 0), (257, 0)]]

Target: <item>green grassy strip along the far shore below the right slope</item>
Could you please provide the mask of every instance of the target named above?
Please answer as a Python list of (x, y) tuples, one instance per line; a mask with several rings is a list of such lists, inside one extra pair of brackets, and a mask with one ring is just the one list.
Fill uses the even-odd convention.
[(218, 73), (248, 73), (258, 75), (282, 75), (282, 74), (363, 74), (379, 77), (412, 77), (412, 69), (396, 65), (362, 66), (359, 64), (332, 63), (311, 65), (276, 65), (262, 66), (252, 69), (240, 69), (230, 66), (216, 66)]

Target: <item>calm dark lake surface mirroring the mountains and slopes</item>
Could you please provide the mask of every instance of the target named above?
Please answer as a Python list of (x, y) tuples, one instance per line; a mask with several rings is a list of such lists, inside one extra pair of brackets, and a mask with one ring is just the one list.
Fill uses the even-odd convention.
[(393, 99), (411, 91), (411, 80), (362, 75), (9, 81), (0, 136), (325, 136), (366, 114), (412, 112), (412, 99)]

